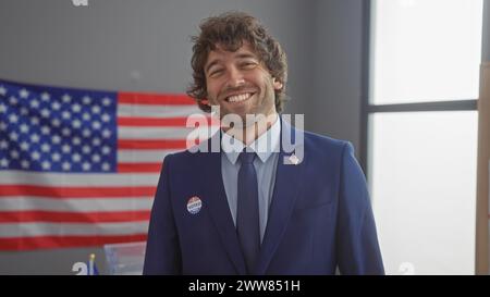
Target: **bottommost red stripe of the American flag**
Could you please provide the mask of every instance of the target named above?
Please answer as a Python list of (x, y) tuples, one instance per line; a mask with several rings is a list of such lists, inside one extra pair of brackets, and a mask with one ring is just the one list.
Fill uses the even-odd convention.
[(147, 234), (134, 235), (86, 235), (86, 236), (32, 236), (0, 238), (0, 250), (28, 250), (36, 248), (102, 246), (105, 244), (119, 244), (145, 242)]

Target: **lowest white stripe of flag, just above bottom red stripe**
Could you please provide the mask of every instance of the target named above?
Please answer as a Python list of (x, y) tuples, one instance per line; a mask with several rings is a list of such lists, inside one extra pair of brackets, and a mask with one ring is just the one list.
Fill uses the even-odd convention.
[(7, 223), (0, 224), (0, 238), (28, 236), (131, 235), (148, 232), (148, 222), (123, 223)]

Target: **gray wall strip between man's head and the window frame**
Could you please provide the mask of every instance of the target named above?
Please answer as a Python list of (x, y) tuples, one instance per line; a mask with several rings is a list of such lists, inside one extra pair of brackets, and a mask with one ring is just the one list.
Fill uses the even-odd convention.
[[(313, 97), (306, 126), (353, 143), (359, 156), (362, 1), (318, 1), (313, 16)], [(308, 73), (307, 72), (307, 73)]]

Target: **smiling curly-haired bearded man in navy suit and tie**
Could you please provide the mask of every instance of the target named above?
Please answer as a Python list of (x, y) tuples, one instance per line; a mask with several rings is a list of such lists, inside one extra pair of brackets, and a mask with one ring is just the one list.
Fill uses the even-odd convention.
[[(200, 29), (188, 95), (233, 124), (197, 152), (166, 157), (144, 273), (383, 274), (352, 145), (278, 115), (286, 84), (280, 45), (245, 13), (207, 18)], [(284, 149), (290, 136), (303, 153)], [(209, 152), (216, 139), (220, 150)]]

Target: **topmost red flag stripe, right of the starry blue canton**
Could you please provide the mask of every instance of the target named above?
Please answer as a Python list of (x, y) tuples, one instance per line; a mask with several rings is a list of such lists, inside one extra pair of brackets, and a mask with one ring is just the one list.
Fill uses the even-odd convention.
[(193, 98), (182, 94), (142, 94), (119, 92), (118, 103), (147, 104), (147, 106), (194, 106)]

